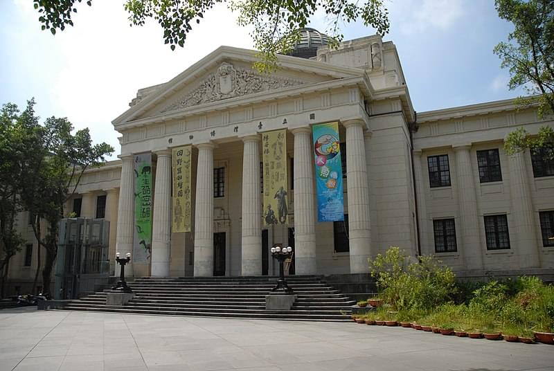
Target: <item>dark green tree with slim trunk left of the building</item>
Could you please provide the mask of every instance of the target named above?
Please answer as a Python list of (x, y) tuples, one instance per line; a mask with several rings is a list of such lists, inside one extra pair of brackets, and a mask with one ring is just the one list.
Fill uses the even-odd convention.
[[(64, 217), (64, 203), (75, 192), (84, 171), (100, 165), (114, 148), (106, 143), (93, 145), (89, 129), (72, 134), (73, 125), (66, 118), (47, 118), (44, 125), (39, 125), (34, 105), (34, 100), (30, 100), (21, 115), (17, 114), (17, 106), (4, 106), (8, 107), (5, 111), (12, 120), (20, 123), (17, 143), (21, 152), (18, 156), (3, 157), (1, 167), (17, 169), (3, 179), (10, 179), (17, 201), (35, 216), (32, 226), (38, 251), (41, 247), (46, 251), (42, 286), (47, 293), (57, 255), (58, 224)], [(46, 226), (44, 235), (42, 224)], [(37, 275), (38, 271), (39, 266)]]

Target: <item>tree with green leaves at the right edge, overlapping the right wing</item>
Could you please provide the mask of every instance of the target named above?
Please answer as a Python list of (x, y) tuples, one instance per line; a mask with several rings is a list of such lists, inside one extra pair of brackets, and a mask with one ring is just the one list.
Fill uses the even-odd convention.
[[(554, 2), (551, 0), (496, 0), (501, 19), (512, 22), (514, 30), (508, 42), (500, 42), (494, 53), (502, 68), (510, 71), (510, 90), (524, 87), (529, 94), (517, 98), (520, 107), (537, 106), (539, 118), (554, 114)], [(537, 136), (517, 129), (506, 138), (508, 154), (529, 148), (542, 149), (554, 159), (554, 131), (544, 126)]]

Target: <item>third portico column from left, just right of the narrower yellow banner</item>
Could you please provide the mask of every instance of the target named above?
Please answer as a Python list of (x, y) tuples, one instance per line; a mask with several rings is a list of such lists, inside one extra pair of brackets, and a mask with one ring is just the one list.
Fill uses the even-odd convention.
[(215, 145), (204, 143), (197, 147), (195, 277), (208, 277), (213, 275), (213, 149)]

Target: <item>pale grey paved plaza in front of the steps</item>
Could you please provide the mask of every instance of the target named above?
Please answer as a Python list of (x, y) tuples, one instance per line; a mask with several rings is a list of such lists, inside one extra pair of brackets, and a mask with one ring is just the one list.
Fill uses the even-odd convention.
[(0, 311), (0, 371), (554, 370), (554, 346), (355, 323)]

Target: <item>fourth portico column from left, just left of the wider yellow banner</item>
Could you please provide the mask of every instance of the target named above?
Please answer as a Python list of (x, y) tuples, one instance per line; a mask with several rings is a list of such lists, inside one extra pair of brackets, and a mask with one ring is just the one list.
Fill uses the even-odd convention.
[(260, 137), (246, 136), (242, 141), (242, 275), (261, 275)]

